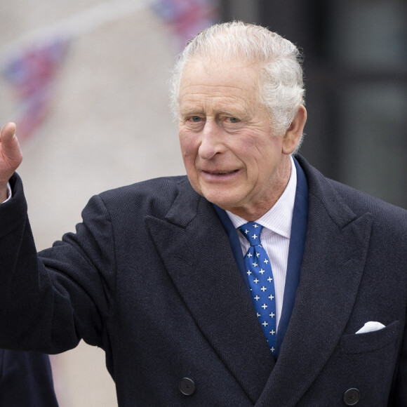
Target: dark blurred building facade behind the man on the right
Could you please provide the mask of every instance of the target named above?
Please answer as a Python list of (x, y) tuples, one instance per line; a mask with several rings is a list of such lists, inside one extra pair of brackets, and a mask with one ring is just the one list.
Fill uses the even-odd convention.
[(407, 2), (222, 0), (221, 15), (302, 48), (308, 161), (407, 208)]

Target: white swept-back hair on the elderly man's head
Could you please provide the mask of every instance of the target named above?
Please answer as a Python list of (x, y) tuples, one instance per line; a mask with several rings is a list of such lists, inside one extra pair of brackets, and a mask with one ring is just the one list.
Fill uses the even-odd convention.
[(178, 55), (170, 86), (170, 107), (178, 118), (182, 71), (201, 58), (239, 60), (258, 69), (258, 98), (267, 108), (274, 135), (283, 135), (300, 105), (305, 104), (302, 55), (298, 48), (265, 27), (245, 22), (225, 22), (204, 29)]

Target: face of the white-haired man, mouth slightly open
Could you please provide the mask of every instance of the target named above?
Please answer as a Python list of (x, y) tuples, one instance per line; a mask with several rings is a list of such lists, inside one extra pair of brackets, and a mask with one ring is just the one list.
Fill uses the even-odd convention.
[(189, 62), (180, 84), (179, 135), (189, 182), (220, 208), (253, 220), (286, 187), (289, 156), (283, 137), (272, 135), (251, 65)]

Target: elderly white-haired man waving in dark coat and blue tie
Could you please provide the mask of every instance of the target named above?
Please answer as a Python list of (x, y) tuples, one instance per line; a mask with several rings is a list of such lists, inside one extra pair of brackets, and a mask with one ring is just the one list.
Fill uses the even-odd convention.
[(187, 177), (94, 196), (38, 255), (5, 126), (0, 346), (102, 347), (119, 406), (407, 406), (407, 213), (295, 154), (299, 59), (201, 32), (171, 87)]

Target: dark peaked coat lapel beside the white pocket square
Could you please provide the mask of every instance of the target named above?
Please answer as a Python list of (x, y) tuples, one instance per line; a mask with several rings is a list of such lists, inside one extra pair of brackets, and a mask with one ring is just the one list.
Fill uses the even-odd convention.
[(356, 216), (331, 182), (300, 161), (309, 181), (300, 283), (259, 407), (295, 406), (321, 372), (352, 312), (371, 233), (371, 215)]

